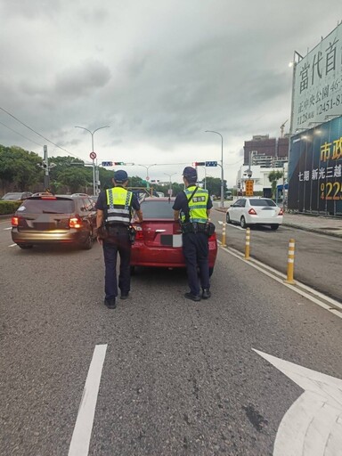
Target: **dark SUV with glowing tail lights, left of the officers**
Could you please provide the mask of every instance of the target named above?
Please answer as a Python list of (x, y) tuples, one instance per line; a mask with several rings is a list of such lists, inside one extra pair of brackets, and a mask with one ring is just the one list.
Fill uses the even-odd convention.
[(90, 249), (96, 234), (95, 203), (86, 195), (38, 193), (12, 216), (12, 240), (20, 248), (71, 243)]

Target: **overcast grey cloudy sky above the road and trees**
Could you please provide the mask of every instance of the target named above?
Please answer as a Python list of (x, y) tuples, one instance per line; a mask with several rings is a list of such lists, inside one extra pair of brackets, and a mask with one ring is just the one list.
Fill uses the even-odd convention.
[(215, 130), (232, 185), (243, 142), (290, 118), (294, 51), (336, 28), (342, 4), (0, 0), (0, 16), (1, 144), (86, 160), (92, 136), (74, 126), (110, 126), (94, 134), (99, 163), (157, 164), (151, 179), (180, 182), (185, 165), (221, 159)]

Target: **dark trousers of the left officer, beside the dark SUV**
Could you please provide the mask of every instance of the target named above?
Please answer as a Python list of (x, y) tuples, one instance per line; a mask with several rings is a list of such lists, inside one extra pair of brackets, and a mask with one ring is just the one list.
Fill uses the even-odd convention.
[[(104, 292), (106, 299), (118, 296), (118, 288), (126, 294), (131, 287), (131, 243), (125, 226), (110, 227), (110, 237), (102, 241), (105, 275)], [(120, 256), (120, 269), (117, 279), (117, 260)]]

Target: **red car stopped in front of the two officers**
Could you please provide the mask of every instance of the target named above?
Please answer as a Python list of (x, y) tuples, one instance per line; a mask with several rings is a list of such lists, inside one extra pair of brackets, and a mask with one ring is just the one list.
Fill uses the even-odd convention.
[[(132, 246), (131, 267), (185, 267), (182, 232), (174, 219), (175, 198), (146, 198), (141, 203), (143, 222), (133, 224), (136, 237)], [(214, 271), (217, 255), (216, 234), (209, 238), (209, 273)]]

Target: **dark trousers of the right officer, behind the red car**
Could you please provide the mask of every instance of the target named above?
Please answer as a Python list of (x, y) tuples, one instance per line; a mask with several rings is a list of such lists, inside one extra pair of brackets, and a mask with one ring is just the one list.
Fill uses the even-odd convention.
[(202, 289), (210, 288), (208, 235), (204, 232), (183, 234), (183, 255), (190, 291), (193, 295), (199, 295), (199, 284)]

